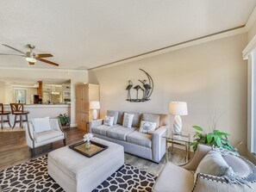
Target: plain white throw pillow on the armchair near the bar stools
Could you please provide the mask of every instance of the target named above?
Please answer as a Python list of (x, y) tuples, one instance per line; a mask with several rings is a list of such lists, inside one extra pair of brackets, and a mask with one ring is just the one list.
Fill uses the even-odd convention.
[(34, 127), (34, 133), (41, 133), (52, 130), (50, 124), (50, 117), (45, 118), (35, 118), (30, 120), (31, 124)]

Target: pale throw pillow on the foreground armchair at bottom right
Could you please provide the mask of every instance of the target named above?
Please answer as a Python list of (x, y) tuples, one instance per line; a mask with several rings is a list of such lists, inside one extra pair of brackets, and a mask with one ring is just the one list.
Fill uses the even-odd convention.
[(222, 155), (219, 152), (211, 150), (198, 164), (195, 173), (195, 181), (198, 173), (222, 177), (227, 171), (230, 171), (230, 169), (232, 170), (232, 168), (227, 164), (224, 158), (222, 158)]

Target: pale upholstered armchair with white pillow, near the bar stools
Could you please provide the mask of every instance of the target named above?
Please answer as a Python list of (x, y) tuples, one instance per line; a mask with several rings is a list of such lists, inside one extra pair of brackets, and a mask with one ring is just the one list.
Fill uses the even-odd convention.
[(34, 157), (36, 147), (52, 144), (55, 141), (63, 140), (66, 146), (66, 133), (60, 126), (58, 119), (37, 118), (28, 121), (26, 127), (27, 145)]

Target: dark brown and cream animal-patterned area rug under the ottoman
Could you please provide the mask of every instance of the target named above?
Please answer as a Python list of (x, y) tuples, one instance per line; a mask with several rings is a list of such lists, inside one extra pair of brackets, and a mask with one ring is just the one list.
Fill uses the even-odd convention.
[[(107, 191), (151, 191), (156, 177), (144, 170), (124, 164), (101, 183), (93, 192)], [(47, 156), (36, 158), (0, 171), (0, 186), (7, 191), (64, 191), (47, 175)], [(1, 191), (1, 189), (0, 189)]]

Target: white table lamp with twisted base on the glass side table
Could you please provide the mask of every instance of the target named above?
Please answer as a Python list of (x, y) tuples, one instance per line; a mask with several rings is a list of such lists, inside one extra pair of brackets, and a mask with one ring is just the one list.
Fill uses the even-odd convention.
[(180, 115), (188, 115), (186, 102), (170, 102), (169, 114), (175, 115), (173, 119), (173, 128), (175, 134), (180, 134), (182, 129), (182, 121)]

